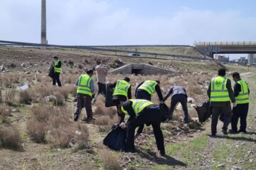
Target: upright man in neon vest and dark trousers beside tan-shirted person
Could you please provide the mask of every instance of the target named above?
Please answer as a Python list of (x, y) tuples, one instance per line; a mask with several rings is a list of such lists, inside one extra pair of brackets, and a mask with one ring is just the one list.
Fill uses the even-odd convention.
[(93, 70), (87, 70), (86, 74), (82, 74), (75, 82), (77, 89), (77, 106), (74, 114), (74, 121), (78, 121), (82, 108), (85, 107), (87, 113), (87, 122), (91, 122), (92, 118), (92, 98), (95, 96), (94, 81), (92, 79)]

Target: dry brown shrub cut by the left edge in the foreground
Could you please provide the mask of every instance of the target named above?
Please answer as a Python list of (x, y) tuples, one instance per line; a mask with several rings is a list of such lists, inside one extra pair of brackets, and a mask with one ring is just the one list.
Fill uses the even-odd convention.
[(0, 142), (4, 148), (21, 149), (21, 136), (14, 127), (0, 126)]

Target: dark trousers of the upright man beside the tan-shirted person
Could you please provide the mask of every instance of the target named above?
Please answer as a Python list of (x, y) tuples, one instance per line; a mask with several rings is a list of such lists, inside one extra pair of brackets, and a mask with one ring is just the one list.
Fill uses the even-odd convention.
[(88, 95), (77, 95), (78, 103), (76, 106), (75, 115), (80, 115), (82, 108), (85, 107), (87, 120), (92, 118), (92, 97)]

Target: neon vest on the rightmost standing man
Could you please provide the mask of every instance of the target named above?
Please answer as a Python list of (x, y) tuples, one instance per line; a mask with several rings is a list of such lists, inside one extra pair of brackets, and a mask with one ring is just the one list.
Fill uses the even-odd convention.
[(238, 84), (241, 86), (241, 91), (239, 92), (238, 96), (235, 97), (235, 101), (238, 104), (249, 103), (249, 94), (248, 94), (248, 84), (245, 80), (240, 79), (237, 81)]

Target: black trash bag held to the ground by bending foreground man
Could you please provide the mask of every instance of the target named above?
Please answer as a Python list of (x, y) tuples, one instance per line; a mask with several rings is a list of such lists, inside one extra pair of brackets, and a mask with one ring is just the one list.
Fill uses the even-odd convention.
[(117, 127), (114, 130), (110, 131), (109, 134), (107, 134), (107, 136), (103, 140), (103, 144), (107, 145), (112, 149), (124, 151), (125, 149), (127, 149), (126, 138), (127, 129)]

